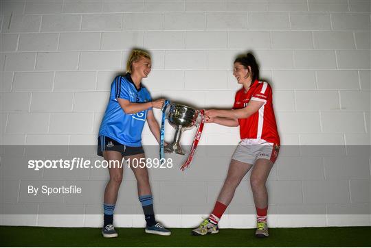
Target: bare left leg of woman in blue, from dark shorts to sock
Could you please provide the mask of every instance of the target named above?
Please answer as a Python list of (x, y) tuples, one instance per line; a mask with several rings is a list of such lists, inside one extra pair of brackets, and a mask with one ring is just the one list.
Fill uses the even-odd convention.
[[(122, 155), (118, 151), (103, 151), (103, 157), (107, 162), (115, 161), (117, 164), (122, 162)], [(113, 168), (113, 166), (109, 166), (109, 182), (106, 185), (106, 190), (104, 190), (104, 203), (116, 203), (118, 190), (122, 182), (123, 171), (123, 168)]]

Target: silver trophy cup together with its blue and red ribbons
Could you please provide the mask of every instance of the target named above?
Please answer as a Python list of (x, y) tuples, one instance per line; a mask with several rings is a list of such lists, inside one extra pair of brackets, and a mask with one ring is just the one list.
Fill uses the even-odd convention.
[[(168, 123), (175, 128), (174, 140), (170, 144), (166, 145), (166, 147), (164, 147), (165, 119), (167, 119)], [(181, 166), (181, 170), (184, 171), (184, 169), (190, 165), (190, 162), (192, 162), (194, 151), (196, 151), (196, 147), (201, 138), (204, 123), (203, 110), (194, 110), (194, 108), (177, 103), (170, 103), (166, 100), (162, 110), (160, 160), (164, 159), (164, 151), (166, 153), (175, 152), (180, 155), (185, 155), (180, 145), (181, 133), (192, 129), (193, 127), (198, 127), (188, 159)]]

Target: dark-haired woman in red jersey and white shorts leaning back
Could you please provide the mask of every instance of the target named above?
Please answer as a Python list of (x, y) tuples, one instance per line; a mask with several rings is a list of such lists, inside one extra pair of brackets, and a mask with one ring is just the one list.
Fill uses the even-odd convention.
[(232, 110), (206, 110), (206, 123), (227, 127), (240, 126), (241, 141), (232, 156), (227, 178), (209, 218), (192, 231), (194, 235), (218, 233), (218, 221), (232, 201), (234, 192), (252, 168), (250, 184), (257, 214), (256, 236), (268, 234), (268, 193), (265, 183), (278, 156), (280, 136), (273, 111), (272, 89), (259, 81), (259, 67), (254, 55), (247, 53), (234, 61), (233, 75), (243, 87), (238, 90)]

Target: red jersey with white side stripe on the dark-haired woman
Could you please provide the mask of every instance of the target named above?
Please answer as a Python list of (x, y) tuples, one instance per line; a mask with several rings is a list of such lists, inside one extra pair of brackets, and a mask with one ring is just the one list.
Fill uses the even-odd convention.
[(274, 116), (272, 103), (272, 88), (267, 82), (256, 80), (249, 90), (245, 88), (237, 91), (234, 99), (234, 109), (245, 108), (249, 101), (262, 101), (264, 105), (246, 119), (238, 119), (240, 124), (240, 138), (265, 140), (280, 145), (276, 117)]

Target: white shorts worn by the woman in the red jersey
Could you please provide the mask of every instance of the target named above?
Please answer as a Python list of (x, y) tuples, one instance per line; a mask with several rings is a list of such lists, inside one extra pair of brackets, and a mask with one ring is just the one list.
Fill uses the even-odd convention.
[(280, 145), (265, 140), (244, 139), (238, 144), (232, 159), (247, 164), (255, 164), (256, 160), (264, 158), (276, 162)]

